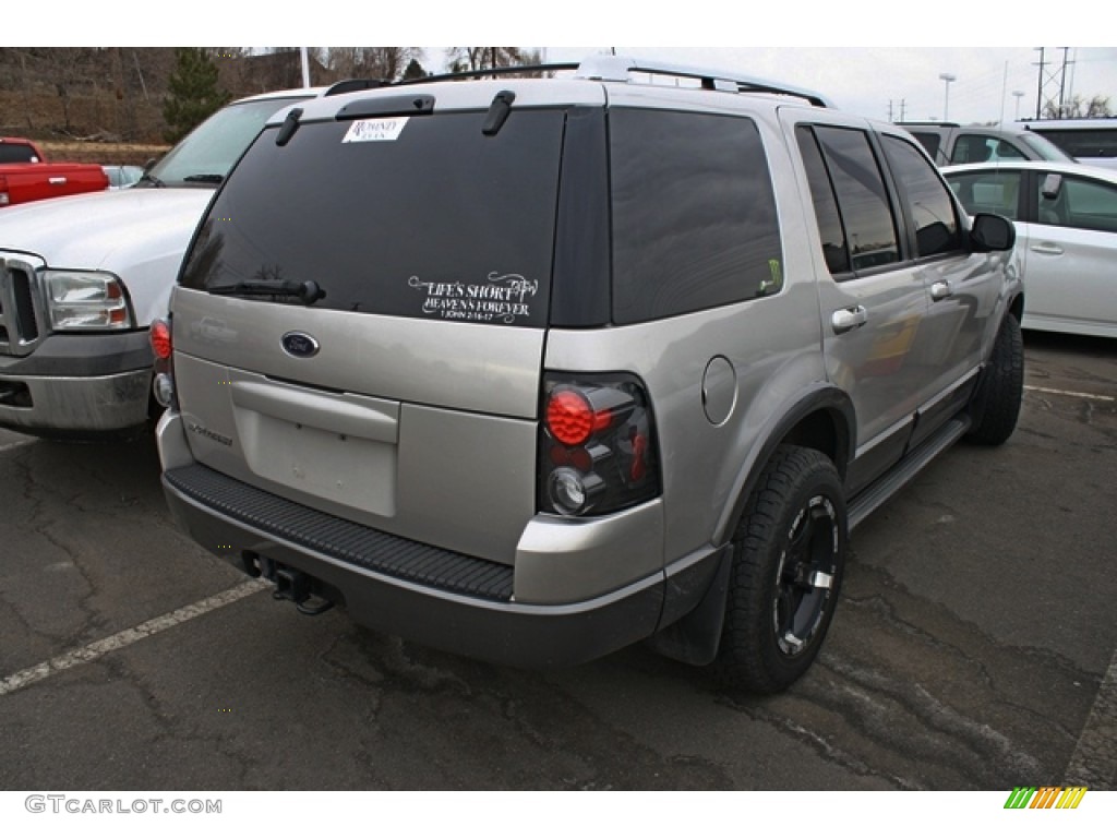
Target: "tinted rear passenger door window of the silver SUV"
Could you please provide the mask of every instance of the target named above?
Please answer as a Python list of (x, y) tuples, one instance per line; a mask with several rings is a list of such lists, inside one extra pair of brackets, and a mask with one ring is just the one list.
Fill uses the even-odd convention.
[(898, 263), (896, 219), (868, 134), (814, 125), (801, 126), (798, 135), (831, 273)]

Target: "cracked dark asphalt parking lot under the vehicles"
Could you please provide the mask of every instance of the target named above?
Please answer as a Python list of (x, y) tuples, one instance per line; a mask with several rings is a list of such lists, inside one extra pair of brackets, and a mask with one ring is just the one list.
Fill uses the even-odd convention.
[(1020, 427), (853, 534), (791, 692), (316, 618), (181, 535), (154, 445), (0, 432), (0, 789), (1117, 789), (1117, 341), (1025, 333)]

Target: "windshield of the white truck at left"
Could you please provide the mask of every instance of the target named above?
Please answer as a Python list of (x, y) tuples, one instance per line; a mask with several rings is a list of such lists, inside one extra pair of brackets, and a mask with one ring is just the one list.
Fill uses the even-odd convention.
[(242, 102), (221, 108), (151, 169), (164, 185), (206, 185), (225, 180), (271, 114), (305, 96)]

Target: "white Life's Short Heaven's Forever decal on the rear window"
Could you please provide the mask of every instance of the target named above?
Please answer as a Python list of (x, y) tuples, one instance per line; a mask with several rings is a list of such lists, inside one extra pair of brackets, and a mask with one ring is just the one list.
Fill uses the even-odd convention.
[(426, 315), (508, 325), (532, 316), (531, 301), (540, 289), (536, 279), (495, 270), (485, 283), (427, 283), (412, 276), (408, 285), (426, 295), (422, 303)]

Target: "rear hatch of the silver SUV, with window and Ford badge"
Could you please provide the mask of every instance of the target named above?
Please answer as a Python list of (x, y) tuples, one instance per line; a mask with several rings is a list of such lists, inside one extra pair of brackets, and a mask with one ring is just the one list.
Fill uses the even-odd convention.
[(499, 92), (317, 102), (249, 150), (172, 303), (200, 463), (513, 562), (535, 513), (566, 115), (508, 114)]

